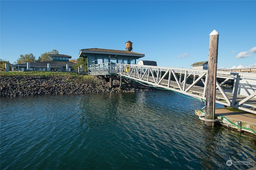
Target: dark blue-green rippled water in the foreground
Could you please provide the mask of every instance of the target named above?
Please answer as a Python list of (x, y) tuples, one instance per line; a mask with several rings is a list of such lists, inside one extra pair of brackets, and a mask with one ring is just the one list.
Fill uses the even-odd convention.
[[(1, 170), (248, 169), (256, 135), (205, 127), (170, 91), (1, 98)], [(227, 160), (251, 161), (227, 166)]]

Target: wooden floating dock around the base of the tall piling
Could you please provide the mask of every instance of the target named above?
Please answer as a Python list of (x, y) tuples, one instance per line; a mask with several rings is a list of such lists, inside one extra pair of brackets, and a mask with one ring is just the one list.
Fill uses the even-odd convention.
[[(205, 110), (195, 110), (198, 116), (204, 116)], [(247, 131), (256, 135), (256, 115), (233, 107), (224, 107), (215, 109), (215, 118), (219, 123), (237, 129), (238, 131)]]

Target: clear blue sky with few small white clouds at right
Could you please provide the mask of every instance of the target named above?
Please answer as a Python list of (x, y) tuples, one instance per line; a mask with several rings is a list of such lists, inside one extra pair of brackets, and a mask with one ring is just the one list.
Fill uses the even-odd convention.
[(0, 1), (0, 58), (36, 59), (56, 49), (144, 53), (158, 66), (192, 68), (208, 61), (209, 34), (219, 32), (218, 68), (256, 67), (256, 1)]

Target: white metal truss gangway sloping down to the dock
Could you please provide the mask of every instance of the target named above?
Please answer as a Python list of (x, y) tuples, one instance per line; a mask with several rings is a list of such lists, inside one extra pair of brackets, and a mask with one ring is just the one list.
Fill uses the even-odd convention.
[[(103, 63), (88, 69), (93, 75), (117, 74), (150, 86), (206, 100), (208, 70), (118, 63)], [(256, 73), (217, 70), (216, 76), (216, 103), (256, 114)], [(227, 82), (231, 82), (233, 88), (225, 88), (223, 85)]]

